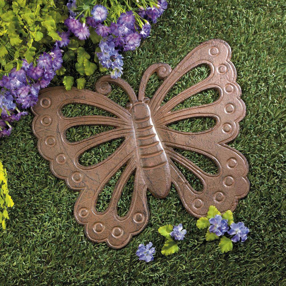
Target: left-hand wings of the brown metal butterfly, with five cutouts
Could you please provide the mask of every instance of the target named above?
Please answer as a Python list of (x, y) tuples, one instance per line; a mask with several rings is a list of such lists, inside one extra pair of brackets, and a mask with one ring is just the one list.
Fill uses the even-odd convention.
[[(146, 202), (146, 186), (141, 173), (136, 172), (130, 210), (123, 218), (117, 215), (117, 202), (122, 188), (136, 167), (135, 143), (130, 128), (130, 113), (103, 95), (110, 91), (108, 82), (112, 82), (109, 77), (98, 81), (96, 88), (101, 94), (76, 88), (71, 91), (66, 91), (63, 87), (44, 89), (39, 95), (37, 105), (32, 108), (35, 114), (33, 132), (39, 139), (39, 152), (50, 161), (53, 174), (65, 179), (70, 188), (82, 190), (74, 207), (74, 215), (78, 223), (85, 225), (87, 237), (92, 241), (106, 241), (109, 246), (120, 248), (145, 227), (149, 211)], [(114, 83), (118, 84), (118, 82)], [(121, 86), (121, 83), (119, 85)], [(128, 90), (127, 84), (125, 87), (132, 99), (132, 91)], [(70, 103), (96, 106), (117, 117), (67, 118), (61, 113), (61, 109)], [(80, 142), (68, 142), (65, 138), (66, 130), (78, 125), (108, 125), (115, 128)], [(121, 137), (125, 138), (124, 142), (104, 161), (88, 167), (79, 164), (78, 158), (85, 151)], [(126, 168), (114, 189), (110, 206), (105, 212), (96, 212), (98, 195), (110, 178), (124, 165)]]

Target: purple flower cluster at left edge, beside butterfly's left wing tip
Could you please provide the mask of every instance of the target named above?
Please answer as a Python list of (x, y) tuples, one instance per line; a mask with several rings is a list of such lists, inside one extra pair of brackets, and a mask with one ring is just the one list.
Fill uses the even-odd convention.
[(38, 100), (39, 90), (49, 85), (55, 71), (62, 65), (62, 50), (69, 43), (69, 33), (59, 33), (61, 41), (49, 53), (43, 52), (37, 59), (37, 65), (23, 59), (22, 67), (11, 70), (8, 76), (0, 80), (0, 138), (11, 134), (11, 123), (28, 114), (20, 111), (34, 106)]

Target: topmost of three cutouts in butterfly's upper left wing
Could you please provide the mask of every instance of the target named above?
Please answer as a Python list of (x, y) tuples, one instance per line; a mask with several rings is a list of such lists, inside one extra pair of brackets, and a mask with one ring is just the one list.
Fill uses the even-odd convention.
[(61, 113), (65, 117), (92, 116), (92, 115), (116, 117), (116, 115), (104, 109), (85, 103), (66, 104), (61, 108)]

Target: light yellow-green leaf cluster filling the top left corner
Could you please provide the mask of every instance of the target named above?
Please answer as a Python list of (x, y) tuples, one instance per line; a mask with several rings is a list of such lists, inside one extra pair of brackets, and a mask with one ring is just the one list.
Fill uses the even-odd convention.
[[(64, 13), (63, 13), (64, 11)], [(67, 18), (64, 1), (0, 1), (0, 73), (21, 68), (22, 58), (32, 62), (43, 45), (61, 40), (59, 25)]]

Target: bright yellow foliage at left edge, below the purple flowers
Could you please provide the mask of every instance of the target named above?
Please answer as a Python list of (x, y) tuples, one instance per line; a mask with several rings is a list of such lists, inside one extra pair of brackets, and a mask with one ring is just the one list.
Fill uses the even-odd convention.
[(9, 219), (7, 207), (12, 207), (13, 205), (14, 202), (11, 196), (9, 196), (7, 172), (0, 160), (0, 223), (3, 229), (6, 228), (6, 219)]

